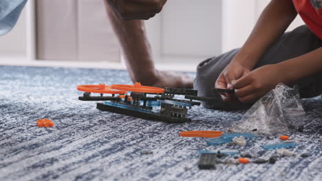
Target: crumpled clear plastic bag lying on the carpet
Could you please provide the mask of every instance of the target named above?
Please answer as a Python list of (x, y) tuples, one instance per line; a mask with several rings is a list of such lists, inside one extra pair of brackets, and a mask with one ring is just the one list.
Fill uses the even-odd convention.
[(230, 130), (252, 132), (264, 136), (290, 134), (290, 129), (303, 130), (305, 111), (299, 101), (299, 91), (278, 84), (261, 97)]

